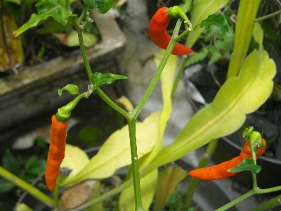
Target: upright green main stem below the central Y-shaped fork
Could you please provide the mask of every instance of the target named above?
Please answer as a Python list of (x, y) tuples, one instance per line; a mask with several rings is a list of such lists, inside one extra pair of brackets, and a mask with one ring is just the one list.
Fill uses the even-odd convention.
[(136, 145), (136, 118), (133, 113), (130, 113), (128, 120), (130, 146), (131, 146), (131, 163), (133, 170), (133, 191), (135, 193), (135, 210), (141, 211), (143, 209), (143, 203), (141, 201), (141, 184), (140, 175), (138, 172), (138, 151)]

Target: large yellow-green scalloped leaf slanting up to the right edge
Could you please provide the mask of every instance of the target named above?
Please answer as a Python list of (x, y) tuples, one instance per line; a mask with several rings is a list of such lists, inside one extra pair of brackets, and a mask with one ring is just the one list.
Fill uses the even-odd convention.
[(196, 113), (185, 124), (174, 143), (162, 149), (152, 161), (161, 166), (181, 158), (208, 143), (239, 129), (246, 114), (257, 110), (270, 96), (276, 66), (266, 51), (247, 56), (238, 77), (231, 77), (216, 94), (213, 103)]

